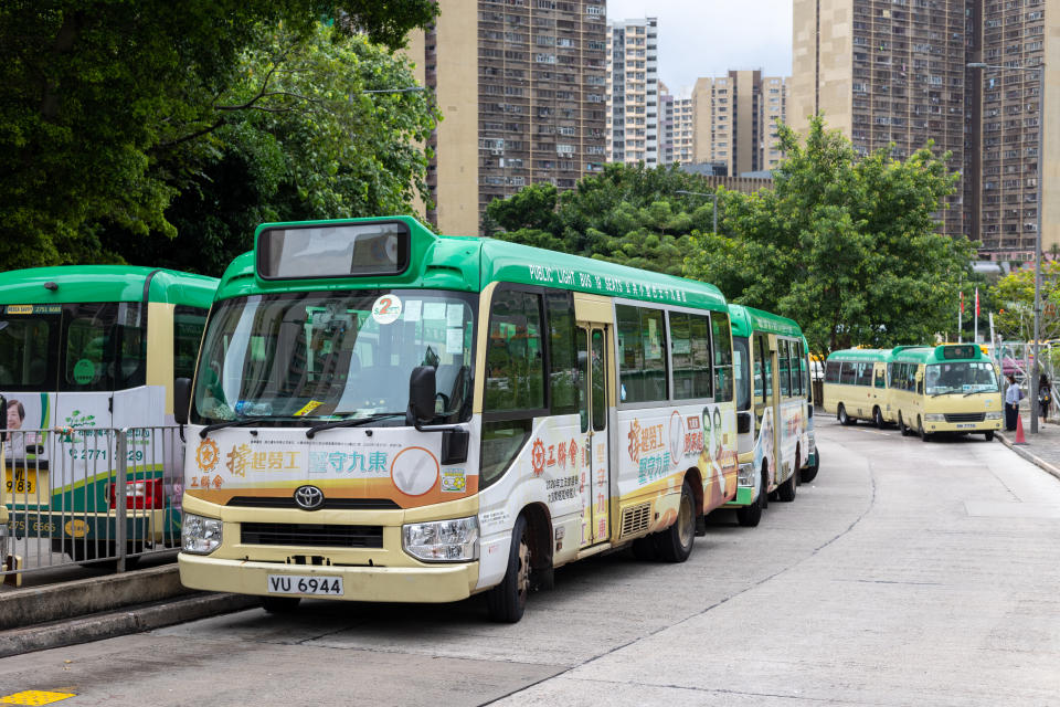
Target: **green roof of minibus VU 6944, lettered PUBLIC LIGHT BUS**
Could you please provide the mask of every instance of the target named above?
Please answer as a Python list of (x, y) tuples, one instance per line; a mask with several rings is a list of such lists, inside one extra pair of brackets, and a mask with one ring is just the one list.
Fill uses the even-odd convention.
[(225, 272), (218, 299), (263, 293), (373, 287), (481, 292), (491, 282), (540, 285), (659, 304), (719, 309), (725, 298), (713, 285), (566, 253), (476, 236), (437, 235), (412, 217), (381, 217), (264, 223), (266, 229), (401, 221), (411, 232), (410, 265), (399, 275), (263, 279), (256, 251), (236, 257)]

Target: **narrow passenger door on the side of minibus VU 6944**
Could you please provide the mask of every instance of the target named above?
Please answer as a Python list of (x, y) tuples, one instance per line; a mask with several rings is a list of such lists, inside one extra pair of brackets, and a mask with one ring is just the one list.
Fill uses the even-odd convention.
[(606, 542), (611, 537), (611, 454), (607, 443), (607, 337), (610, 327), (581, 324), (577, 362), (581, 378), (582, 420), (582, 540), (580, 547)]

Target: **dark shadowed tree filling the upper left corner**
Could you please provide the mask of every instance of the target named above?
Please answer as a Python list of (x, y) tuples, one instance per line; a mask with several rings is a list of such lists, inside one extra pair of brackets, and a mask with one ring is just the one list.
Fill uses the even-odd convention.
[[(102, 228), (174, 234), (170, 201), (213, 133), (262, 25), (307, 36), (333, 17), (400, 44), (431, 0), (13, 0), (0, 4), (0, 267), (75, 262)], [(102, 225), (100, 225), (102, 224)]]

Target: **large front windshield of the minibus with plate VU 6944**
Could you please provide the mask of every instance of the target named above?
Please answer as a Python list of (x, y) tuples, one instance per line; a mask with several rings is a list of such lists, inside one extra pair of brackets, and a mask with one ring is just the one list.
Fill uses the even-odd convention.
[(321, 420), (404, 413), (409, 377), (435, 368), (435, 420), (470, 418), (476, 296), (430, 289), (306, 292), (220, 302), (192, 419)]

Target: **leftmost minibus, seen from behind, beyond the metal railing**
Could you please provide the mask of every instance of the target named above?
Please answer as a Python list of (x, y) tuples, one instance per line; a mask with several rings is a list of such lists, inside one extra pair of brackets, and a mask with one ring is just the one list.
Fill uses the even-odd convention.
[(173, 424), (173, 378), (194, 370), (216, 284), (123, 265), (0, 273), (3, 500), (14, 537), (51, 538), (77, 561), (113, 558), (115, 430), (135, 428), (128, 551), (166, 537), (176, 545), (182, 452), (152, 428)]

